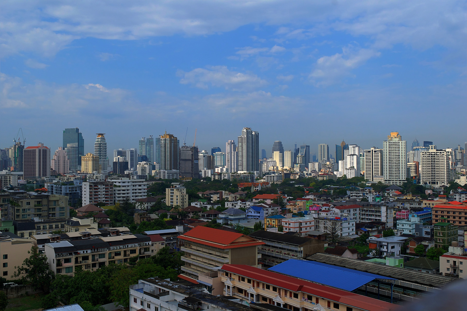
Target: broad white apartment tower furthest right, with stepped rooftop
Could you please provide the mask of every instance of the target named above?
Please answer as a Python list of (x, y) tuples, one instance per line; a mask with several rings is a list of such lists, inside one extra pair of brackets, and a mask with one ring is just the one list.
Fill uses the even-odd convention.
[(448, 182), (454, 180), (453, 150), (430, 145), (428, 151), (420, 152), (419, 170), (422, 185), (448, 186)]

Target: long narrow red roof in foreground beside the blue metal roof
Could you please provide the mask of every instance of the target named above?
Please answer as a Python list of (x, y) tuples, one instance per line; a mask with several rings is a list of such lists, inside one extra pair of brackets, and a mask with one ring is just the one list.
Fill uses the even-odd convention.
[(340, 290), (337, 288), (311, 283), (291, 276), (285, 276), (280, 273), (272, 272), (269, 270), (262, 270), (259, 268), (241, 265), (241, 264), (225, 264), (222, 270), (245, 276), (259, 282), (268, 283), (277, 287), (282, 287), (291, 291), (303, 291), (305, 293), (323, 297), (325, 299), (347, 304), (359, 309), (368, 311), (389, 311), (397, 308), (396, 305), (390, 304), (375, 298), (366, 297), (363, 295), (355, 294), (347, 290)]

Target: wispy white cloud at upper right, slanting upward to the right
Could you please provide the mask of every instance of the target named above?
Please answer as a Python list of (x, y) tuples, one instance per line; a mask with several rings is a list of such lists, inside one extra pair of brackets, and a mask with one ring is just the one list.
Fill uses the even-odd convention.
[(342, 48), (342, 53), (318, 58), (308, 77), (315, 86), (325, 87), (339, 82), (342, 77), (350, 75), (352, 69), (379, 55), (379, 52), (368, 48)]

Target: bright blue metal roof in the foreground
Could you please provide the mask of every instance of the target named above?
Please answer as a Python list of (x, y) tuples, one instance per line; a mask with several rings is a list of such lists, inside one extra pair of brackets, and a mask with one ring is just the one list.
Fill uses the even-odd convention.
[(355, 290), (374, 279), (396, 280), (387, 276), (333, 266), (327, 263), (297, 259), (279, 263), (268, 270), (348, 291)]

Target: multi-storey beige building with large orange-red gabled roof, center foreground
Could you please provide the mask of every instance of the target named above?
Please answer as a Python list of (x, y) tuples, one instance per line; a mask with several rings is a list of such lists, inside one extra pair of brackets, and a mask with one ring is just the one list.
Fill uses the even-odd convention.
[[(247, 235), (198, 226), (178, 236), (184, 242), (180, 278), (194, 282), (199, 274), (226, 263), (258, 265), (258, 246), (265, 244)], [(260, 255), (261, 256), (261, 255)], [(211, 284), (212, 286), (212, 284)]]

